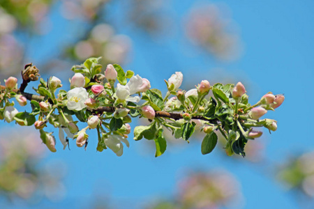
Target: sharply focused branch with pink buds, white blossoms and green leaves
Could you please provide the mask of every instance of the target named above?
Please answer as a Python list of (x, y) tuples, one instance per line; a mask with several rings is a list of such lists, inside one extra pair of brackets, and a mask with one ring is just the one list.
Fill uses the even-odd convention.
[[(132, 118), (143, 117), (149, 125), (134, 128), (134, 139), (154, 139), (156, 157), (167, 147), (163, 130), (172, 132), (175, 138), (188, 141), (193, 132), (204, 133), (202, 154), (211, 153), (217, 144), (220, 132), (226, 139), (227, 155), (234, 153), (245, 156), (244, 147), (249, 139), (262, 135), (253, 127), (266, 127), (276, 131), (277, 122), (260, 119), (269, 110), (279, 107), (283, 95), (267, 93), (254, 105), (248, 103), (246, 89), (241, 82), (214, 84), (202, 80), (188, 91), (180, 89), (183, 82), (181, 72), (175, 72), (167, 81), (167, 93), (151, 88), (148, 79), (135, 75), (131, 70), (124, 72), (120, 65), (108, 64), (104, 72), (100, 58), (87, 59), (82, 65), (74, 65), (70, 78), (70, 90), (63, 89), (61, 79), (50, 77), (47, 82), (40, 79), (36, 88), (38, 95), (24, 93), (27, 83), (38, 80), (36, 66), (26, 65), (22, 72), (23, 83), (17, 88), (17, 78), (9, 77), (1, 86), (0, 119), (18, 125), (34, 125), (39, 130), (43, 144), (56, 152), (56, 138), (46, 132), (47, 125), (59, 129), (59, 141), (65, 149), (74, 139), (78, 147), (87, 148), (89, 131), (96, 130), (98, 146), (102, 152), (110, 148), (121, 156), (124, 146), (129, 147), (128, 134)], [(212, 96), (209, 92), (212, 91)], [(12, 98), (24, 106), (31, 100), (31, 112), (19, 112)], [(73, 118), (77, 118), (75, 121)], [(77, 123), (85, 123), (79, 128)]]

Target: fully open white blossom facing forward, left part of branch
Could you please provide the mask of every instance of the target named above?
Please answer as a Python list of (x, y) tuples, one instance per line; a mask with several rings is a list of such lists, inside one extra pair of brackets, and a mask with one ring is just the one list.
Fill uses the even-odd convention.
[(84, 104), (85, 100), (87, 100), (89, 94), (87, 93), (85, 88), (73, 88), (72, 90), (68, 91), (66, 97), (68, 98), (68, 104), (66, 106), (70, 110), (80, 111), (86, 104)]

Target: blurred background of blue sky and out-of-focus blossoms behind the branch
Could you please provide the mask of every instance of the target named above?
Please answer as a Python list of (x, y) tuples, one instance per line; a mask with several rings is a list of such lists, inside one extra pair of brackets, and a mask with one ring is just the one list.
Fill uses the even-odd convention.
[(49, 153), (33, 127), (1, 121), (0, 208), (312, 208), (313, 9), (311, 0), (0, 0), (1, 82), (32, 62), (68, 90), (72, 65), (103, 56), (163, 93), (181, 71), (186, 90), (208, 79), (242, 82), (251, 104), (285, 94), (267, 114), (278, 130), (249, 141), (246, 158), (222, 146), (202, 155), (202, 135), (169, 136), (157, 158), (153, 141), (130, 137), (117, 157), (96, 152), (92, 131), (86, 151), (57, 139)]

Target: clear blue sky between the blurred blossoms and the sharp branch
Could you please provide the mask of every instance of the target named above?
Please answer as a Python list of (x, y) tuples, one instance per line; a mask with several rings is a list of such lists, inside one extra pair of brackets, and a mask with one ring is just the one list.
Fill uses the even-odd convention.
[[(206, 53), (193, 54), (193, 50), (189, 52), (192, 54), (189, 57), (183, 51), (190, 46), (181, 34), (180, 21), (195, 2), (223, 3), (229, 8), (243, 44), (243, 52), (237, 61), (217, 61)], [(245, 201), (240, 208), (299, 208), (291, 194), (283, 192), (281, 185), (274, 180), (271, 165), (282, 162), (287, 156), (314, 148), (311, 107), (314, 102), (311, 95), (314, 81), (313, 7), (314, 1), (310, 0), (184, 3), (173, 0), (167, 6), (167, 12), (171, 14), (176, 30), (165, 38), (151, 39), (132, 26), (126, 26), (119, 18), (124, 11), (121, 3), (112, 3), (110, 20), (119, 33), (133, 40), (132, 60), (124, 66), (125, 69), (134, 70), (149, 79), (152, 88), (164, 90), (163, 79), (181, 71), (184, 82), (195, 74), (199, 78), (196, 82), (205, 78), (211, 82), (211, 78), (217, 77), (214, 73), (233, 77), (234, 82), (244, 82), (251, 103), (257, 102), (269, 91), (285, 93), (284, 104), (267, 114), (268, 118), (278, 121), (278, 130), (272, 134), (265, 130), (264, 137), (257, 139), (267, 141), (264, 150), (267, 163), (254, 165), (246, 160), (226, 158), (221, 150), (217, 150), (219, 148), (209, 155), (202, 155), (200, 141), (183, 144), (179, 148), (170, 146), (170, 150), (157, 158), (154, 157), (154, 150), (141, 152), (147, 148), (143, 144), (153, 141), (133, 141), (132, 134), (130, 148), (124, 149), (122, 157), (117, 157), (111, 150), (96, 153), (96, 134), (90, 135), (87, 151), (76, 148), (74, 143), (71, 150), (61, 150), (61, 144), (58, 144), (57, 153), (48, 155), (47, 161), (62, 160), (68, 165), (64, 182), (68, 193), (64, 201), (49, 203), (50, 206), (88, 208), (96, 194), (103, 194), (109, 195), (113, 203), (120, 204), (121, 208), (138, 208), (154, 196), (171, 197), (177, 180), (190, 169), (210, 171), (220, 168), (232, 173), (241, 183)], [(57, 12), (54, 16), (54, 26), (65, 29), (69, 23), (61, 22)], [(56, 50), (53, 42), (60, 39), (59, 33), (57, 28), (53, 28), (48, 38), (43, 40), (47, 43), (45, 47)], [(34, 49), (36, 47), (38, 45), (34, 45)], [(38, 56), (36, 59), (41, 58)], [(63, 78), (63, 83), (66, 81), (67, 78)], [(132, 127), (136, 123), (134, 121)]]

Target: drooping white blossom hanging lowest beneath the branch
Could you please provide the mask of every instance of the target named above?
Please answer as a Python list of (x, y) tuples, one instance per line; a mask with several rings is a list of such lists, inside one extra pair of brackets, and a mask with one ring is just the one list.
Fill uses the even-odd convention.
[(110, 148), (117, 156), (121, 156), (124, 153), (124, 145), (121, 143), (124, 142), (127, 147), (130, 146), (128, 140), (118, 134), (108, 135), (104, 139), (105, 145)]

